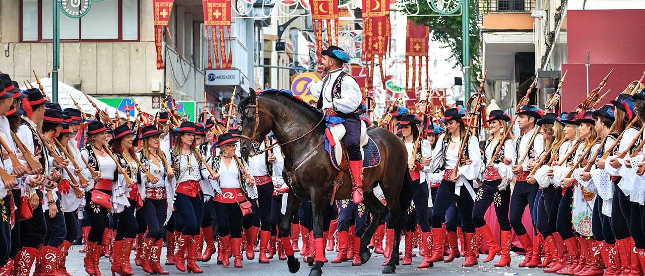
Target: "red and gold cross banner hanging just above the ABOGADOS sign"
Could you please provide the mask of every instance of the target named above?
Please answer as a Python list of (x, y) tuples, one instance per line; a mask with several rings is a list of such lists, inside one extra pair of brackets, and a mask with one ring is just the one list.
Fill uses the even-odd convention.
[[(208, 41), (213, 41), (213, 52), (215, 53), (215, 66), (219, 69), (231, 68), (233, 61), (232, 47), (229, 45), (228, 57), (226, 57), (226, 44), (224, 43), (224, 28), (231, 37), (231, 0), (202, 0), (204, 12), (204, 26)], [(211, 35), (208, 35), (210, 26)], [(230, 44), (230, 43), (229, 43)], [(217, 46), (219, 45), (219, 51)], [(210, 44), (209, 44), (210, 47)], [(213, 68), (213, 62), (208, 50), (208, 68)]]

